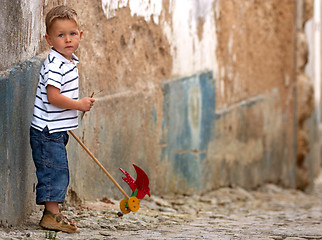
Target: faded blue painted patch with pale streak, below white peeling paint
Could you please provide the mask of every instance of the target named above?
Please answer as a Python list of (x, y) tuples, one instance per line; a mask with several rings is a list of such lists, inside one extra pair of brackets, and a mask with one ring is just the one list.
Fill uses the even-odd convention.
[[(214, 137), (215, 80), (212, 72), (171, 80), (163, 84), (162, 157), (169, 161), (175, 178), (171, 188), (201, 188), (201, 162)], [(185, 186), (185, 187), (184, 187)]]

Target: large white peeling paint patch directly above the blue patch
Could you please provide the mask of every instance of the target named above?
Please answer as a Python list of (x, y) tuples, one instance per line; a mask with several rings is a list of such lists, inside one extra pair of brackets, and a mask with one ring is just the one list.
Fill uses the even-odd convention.
[[(173, 75), (188, 76), (205, 70), (217, 74), (213, 2), (171, 1), (171, 23), (165, 21), (162, 24), (164, 34), (171, 43)], [(198, 36), (200, 22), (203, 23), (201, 37)]]

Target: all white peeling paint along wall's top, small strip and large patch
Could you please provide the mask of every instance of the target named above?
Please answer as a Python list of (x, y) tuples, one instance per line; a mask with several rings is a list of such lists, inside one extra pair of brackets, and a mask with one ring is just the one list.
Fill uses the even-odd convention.
[(162, 0), (103, 0), (102, 9), (109, 19), (118, 9), (128, 6), (132, 16), (143, 17), (147, 22), (152, 18), (160, 24), (171, 43), (173, 75), (188, 76), (204, 70), (218, 72), (213, 3), (214, 0), (170, 1), (171, 22), (161, 17)]

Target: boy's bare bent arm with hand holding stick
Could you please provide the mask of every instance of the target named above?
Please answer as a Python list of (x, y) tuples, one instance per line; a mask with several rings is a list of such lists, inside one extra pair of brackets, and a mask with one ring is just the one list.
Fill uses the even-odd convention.
[(52, 85), (47, 86), (47, 99), (56, 107), (80, 111), (89, 111), (95, 102), (94, 98), (89, 97), (80, 100), (71, 99), (60, 94), (60, 90)]

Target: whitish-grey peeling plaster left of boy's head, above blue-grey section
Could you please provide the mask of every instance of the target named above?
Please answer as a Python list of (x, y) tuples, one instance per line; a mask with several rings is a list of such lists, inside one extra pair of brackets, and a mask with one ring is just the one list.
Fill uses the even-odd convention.
[(22, 63), (39, 53), (43, 2), (4, 0), (0, 6), (0, 70)]

